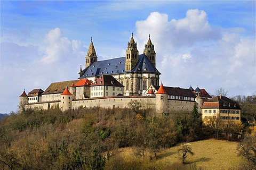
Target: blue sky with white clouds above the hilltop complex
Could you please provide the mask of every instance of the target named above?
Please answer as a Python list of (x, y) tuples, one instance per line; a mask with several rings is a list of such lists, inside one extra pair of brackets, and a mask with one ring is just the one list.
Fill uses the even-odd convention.
[(0, 113), (25, 89), (76, 80), (91, 37), (98, 60), (148, 37), (164, 86), (256, 91), (255, 1), (0, 1)]

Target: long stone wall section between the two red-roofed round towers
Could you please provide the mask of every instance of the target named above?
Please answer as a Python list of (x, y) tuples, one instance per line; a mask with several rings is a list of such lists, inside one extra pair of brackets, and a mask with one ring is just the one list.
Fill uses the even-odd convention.
[(137, 100), (141, 103), (141, 109), (153, 108), (155, 109), (154, 97), (109, 97), (109, 98), (93, 98), (73, 100), (72, 108), (83, 107), (105, 107), (105, 108), (126, 108), (131, 101)]

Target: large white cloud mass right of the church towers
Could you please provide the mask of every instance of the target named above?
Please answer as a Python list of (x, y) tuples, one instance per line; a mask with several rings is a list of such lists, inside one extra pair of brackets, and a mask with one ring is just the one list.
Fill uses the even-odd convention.
[(255, 91), (255, 37), (242, 36), (244, 28), (213, 28), (206, 12), (197, 9), (188, 10), (182, 19), (168, 17), (150, 13), (136, 22), (135, 34), (140, 52), (151, 34), (165, 86), (192, 84), (211, 93), (222, 87), (230, 96), (244, 94), (238, 89), (245, 87)]

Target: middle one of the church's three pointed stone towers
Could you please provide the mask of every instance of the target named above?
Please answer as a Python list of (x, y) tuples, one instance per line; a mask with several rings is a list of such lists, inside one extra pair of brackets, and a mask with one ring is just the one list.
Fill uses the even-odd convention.
[(137, 43), (133, 39), (133, 33), (130, 42), (127, 44), (125, 54), (125, 71), (131, 71), (139, 61), (139, 51), (137, 49)]

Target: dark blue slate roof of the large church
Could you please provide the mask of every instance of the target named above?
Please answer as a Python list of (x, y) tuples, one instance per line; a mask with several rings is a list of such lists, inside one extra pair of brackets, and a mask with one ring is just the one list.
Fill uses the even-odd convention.
[(110, 60), (102, 60), (92, 63), (80, 73), (79, 79), (87, 77), (99, 77), (100, 75), (114, 75), (122, 73), (161, 73), (156, 69), (154, 64), (150, 62), (145, 54), (139, 55), (139, 62), (131, 71), (125, 71), (125, 57), (113, 58)]

